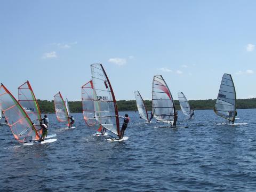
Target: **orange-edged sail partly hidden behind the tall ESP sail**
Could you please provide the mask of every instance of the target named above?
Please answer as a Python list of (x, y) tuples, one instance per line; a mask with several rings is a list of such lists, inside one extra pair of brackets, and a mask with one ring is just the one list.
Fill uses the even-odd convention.
[(82, 86), (82, 107), (86, 125), (94, 126), (97, 121), (94, 118), (93, 84), (92, 81)]

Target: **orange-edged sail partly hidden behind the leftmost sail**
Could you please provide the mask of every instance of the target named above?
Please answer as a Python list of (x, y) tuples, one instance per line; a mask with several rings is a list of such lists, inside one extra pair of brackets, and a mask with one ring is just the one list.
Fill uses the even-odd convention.
[(18, 101), (31, 121), (39, 125), (41, 113), (35, 94), (28, 81), (18, 87)]

